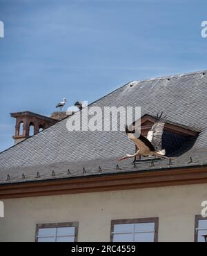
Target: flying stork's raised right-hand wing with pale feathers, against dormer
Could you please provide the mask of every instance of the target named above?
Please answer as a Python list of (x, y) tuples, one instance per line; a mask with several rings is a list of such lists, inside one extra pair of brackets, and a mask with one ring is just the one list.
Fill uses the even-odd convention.
[(150, 141), (150, 143), (152, 143), (152, 145), (155, 147), (155, 150), (161, 150), (162, 149), (162, 134), (164, 131), (164, 125), (165, 125), (165, 118), (161, 118), (162, 116), (162, 112), (161, 115), (159, 116), (157, 114), (157, 118), (156, 121), (154, 123), (154, 125), (152, 125), (152, 128), (150, 129), (150, 131), (148, 131), (148, 140)]

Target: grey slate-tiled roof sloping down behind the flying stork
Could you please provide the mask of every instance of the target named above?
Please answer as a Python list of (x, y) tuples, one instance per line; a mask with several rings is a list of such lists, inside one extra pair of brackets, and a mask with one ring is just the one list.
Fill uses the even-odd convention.
[(207, 71), (128, 83), (90, 106), (141, 106), (141, 115), (156, 116), (157, 112), (164, 111), (170, 122), (187, 127), (197, 125), (202, 132), (188, 152), (173, 160), (171, 165), (168, 160), (161, 160), (155, 161), (155, 166), (148, 161), (134, 166), (129, 159), (118, 163), (121, 170), (117, 170), (117, 159), (135, 151), (135, 145), (124, 131), (69, 132), (66, 129), (68, 118), (65, 118), (1, 152), (0, 184), (206, 165), (206, 102)]

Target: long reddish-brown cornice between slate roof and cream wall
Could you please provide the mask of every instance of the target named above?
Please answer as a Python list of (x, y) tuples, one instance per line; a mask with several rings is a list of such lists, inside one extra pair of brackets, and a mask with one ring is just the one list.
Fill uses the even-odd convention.
[(207, 166), (191, 166), (0, 185), (0, 199), (207, 183)]

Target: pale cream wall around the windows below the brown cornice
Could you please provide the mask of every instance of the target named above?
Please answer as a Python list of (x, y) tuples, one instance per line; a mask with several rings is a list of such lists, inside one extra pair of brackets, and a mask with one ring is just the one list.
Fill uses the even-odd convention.
[(109, 241), (110, 221), (159, 217), (159, 241), (193, 241), (207, 184), (3, 200), (0, 241), (34, 241), (37, 223), (79, 221), (78, 241)]

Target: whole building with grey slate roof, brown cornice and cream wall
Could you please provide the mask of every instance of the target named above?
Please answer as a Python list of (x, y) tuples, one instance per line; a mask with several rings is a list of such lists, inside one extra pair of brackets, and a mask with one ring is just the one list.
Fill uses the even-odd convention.
[(71, 117), (2, 152), (0, 241), (204, 241), (206, 95), (201, 71), (129, 83), (92, 103), (140, 106), (144, 136), (164, 111), (172, 159), (117, 162), (135, 150), (124, 131), (69, 132)]

